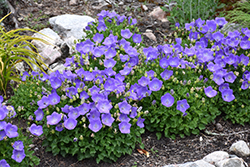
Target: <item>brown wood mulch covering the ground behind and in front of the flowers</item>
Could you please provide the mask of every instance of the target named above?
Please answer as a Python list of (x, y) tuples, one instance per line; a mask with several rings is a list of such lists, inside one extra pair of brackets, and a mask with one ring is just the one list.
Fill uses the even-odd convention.
[[(102, 3), (104, 2), (105, 0)], [(118, 14), (137, 18), (137, 26), (141, 33), (144, 33), (146, 29), (152, 30), (157, 41), (144, 36), (144, 44), (147, 47), (164, 44), (164, 36), (172, 33), (168, 22), (162, 23), (148, 16), (149, 12), (155, 7), (163, 6), (165, 4), (164, 0), (148, 0), (146, 3), (144, 0), (109, 0), (107, 2), (120, 3), (121, 5), (117, 7), (111, 3), (100, 7), (97, 0), (78, 0), (74, 6), (70, 6), (67, 0), (13, 0), (11, 4), (15, 9), (15, 13), (11, 17), (16, 18), (16, 23), (19, 27), (29, 26), (32, 28), (35, 25), (47, 25), (49, 27), (47, 24), (48, 19), (53, 16), (67, 13), (86, 14), (96, 18), (97, 13), (101, 10), (114, 10)], [(228, 2), (227, 9), (229, 7), (231, 9), (231, 3), (235, 1), (226, 2)], [(144, 4), (148, 7), (147, 11), (142, 9), (142, 5)], [(44, 15), (47, 18), (41, 18)], [(41, 18), (40, 20), (34, 20), (34, 18), (39, 17)], [(15, 23), (10, 18), (5, 22), (5, 26), (6, 29), (13, 29), (15, 28)], [(10, 86), (7, 87), (7, 92), (8, 98), (13, 95)], [(0, 93), (2, 94), (3, 92)], [(220, 124), (222, 129), (217, 129), (216, 124)], [(21, 125), (23, 127), (26, 126), (25, 120), (22, 120)], [(223, 115), (221, 115), (213, 123), (207, 125), (206, 129), (201, 131), (200, 135), (191, 135), (184, 138), (177, 137), (175, 140), (162, 137), (160, 140), (157, 140), (155, 133), (146, 131), (142, 135), (142, 142), (145, 145), (144, 149), (149, 152), (149, 157), (140, 154), (136, 148), (131, 155), (122, 156), (117, 162), (112, 164), (104, 162), (97, 164), (94, 159), (78, 161), (76, 157), (72, 156), (66, 158), (60, 155), (53, 156), (52, 153), (45, 151), (46, 148), (42, 146), (42, 139), (37, 137), (33, 140), (34, 147), (32, 149), (35, 150), (35, 155), (41, 159), (40, 165), (37, 167), (155, 167), (196, 161), (214, 151), (222, 150), (229, 152), (229, 148), (234, 142), (238, 140), (248, 142), (250, 140), (249, 129), (249, 124), (245, 126), (232, 124), (230, 121), (224, 120)], [(250, 157), (244, 157), (243, 159), (250, 165)]]

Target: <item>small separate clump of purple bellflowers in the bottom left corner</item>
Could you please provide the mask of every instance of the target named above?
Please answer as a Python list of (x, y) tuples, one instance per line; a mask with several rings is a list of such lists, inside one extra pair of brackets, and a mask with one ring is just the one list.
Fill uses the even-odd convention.
[(16, 115), (13, 106), (5, 106), (3, 97), (0, 96), (0, 165), (1, 166), (34, 166), (40, 159), (33, 155), (29, 145), (32, 139), (24, 136), (21, 129), (11, 124), (11, 119)]

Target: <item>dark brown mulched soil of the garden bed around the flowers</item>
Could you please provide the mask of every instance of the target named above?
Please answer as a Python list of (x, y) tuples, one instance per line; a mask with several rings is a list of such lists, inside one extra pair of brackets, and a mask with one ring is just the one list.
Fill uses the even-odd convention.
[[(156, 2), (156, 1), (154, 1)], [(40, 5), (39, 5), (40, 4)], [(148, 12), (152, 11), (153, 7), (156, 5), (164, 5), (163, 2), (157, 3), (149, 3)], [(36, 16), (28, 16), (31, 24), (30, 26), (34, 26), (38, 24), (38, 22), (32, 20), (34, 18), (41, 17), (40, 8), (43, 7), (41, 15), (47, 12), (49, 17), (59, 14), (72, 13), (72, 14), (83, 14), (83, 11), (86, 12), (87, 15), (92, 17), (96, 17), (96, 14), (99, 13), (102, 9), (112, 10), (114, 6), (106, 6), (100, 8), (99, 10), (95, 10), (93, 8), (94, 5), (97, 4), (82, 4), (82, 8), (79, 5), (76, 6), (68, 6), (65, 3), (58, 3), (58, 1), (41, 1), (41, 3), (25, 3), (24, 1), (19, 1), (19, 13), (23, 18), (28, 16), (31, 11), (36, 13)], [(128, 11), (127, 6), (131, 5), (130, 11)], [(144, 36), (144, 44), (146, 46), (157, 46), (159, 44), (164, 43), (164, 35), (169, 34), (171, 32), (168, 23), (162, 23), (157, 19), (153, 19), (148, 17), (148, 12), (140, 12), (138, 10), (133, 11), (133, 6), (136, 9), (138, 6), (140, 7), (143, 3), (135, 2), (135, 3), (127, 3), (124, 1), (124, 8), (121, 10), (117, 10), (118, 14), (126, 14), (127, 16), (141, 16), (138, 18), (138, 27), (140, 32), (145, 32), (146, 29), (153, 30), (153, 33), (156, 35), (156, 41), (153, 41)], [(40, 6), (40, 7), (39, 7)], [(51, 8), (57, 8), (57, 12), (53, 14), (48, 14), (51, 11)], [(63, 10), (67, 9), (67, 10)], [(126, 9), (127, 8), (127, 9)], [(27, 10), (24, 10), (27, 9)], [(119, 8), (120, 9), (120, 8)], [(21, 12), (22, 11), (22, 12)], [(36, 12), (34, 12), (36, 11)], [(140, 20), (141, 19), (141, 20)], [(46, 19), (41, 19), (39, 23), (45, 25)], [(28, 22), (25, 20), (20, 22), (20, 26), (27, 26)], [(11, 95), (11, 89), (9, 89), (9, 95)], [(221, 124), (223, 129), (218, 129), (216, 124)], [(25, 122), (23, 122), (23, 127), (26, 127)], [(76, 157), (62, 157), (60, 155), (53, 156), (50, 152), (45, 152), (45, 147), (42, 147), (42, 139), (39, 137), (35, 137), (33, 139), (35, 150), (35, 155), (37, 155), (41, 159), (41, 163), (38, 166), (163, 166), (166, 164), (174, 164), (174, 163), (184, 163), (189, 161), (195, 161), (203, 158), (208, 153), (218, 150), (229, 151), (229, 147), (235, 141), (242, 139), (245, 141), (249, 141), (249, 134), (247, 130), (250, 128), (249, 124), (236, 125), (232, 124), (230, 121), (225, 121), (223, 116), (219, 116), (216, 118), (215, 122), (206, 126), (206, 129), (202, 130), (200, 135), (191, 135), (189, 137), (180, 138), (177, 137), (175, 140), (170, 138), (162, 137), (160, 140), (157, 140), (155, 133), (146, 131), (145, 134), (142, 135), (142, 142), (145, 145), (145, 150), (149, 152), (149, 157), (146, 157), (144, 154), (140, 154), (136, 149), (139, 149), (139, 146), (133, 150), (131, 155), (125, 155), (118, 159), (116, 163), (108, 164), (101, 162), (97, 164), (95, 160), (82, 160), (78, 161)], [(206, 132), (213, 132), (215, 134), (209, 135)], [(220, 135), (221, 134), (221, 135)], [(202, 140), (201, 140), (202, 138)], [(244, 160), (250, 164), (250, 158), (246, 157)]]

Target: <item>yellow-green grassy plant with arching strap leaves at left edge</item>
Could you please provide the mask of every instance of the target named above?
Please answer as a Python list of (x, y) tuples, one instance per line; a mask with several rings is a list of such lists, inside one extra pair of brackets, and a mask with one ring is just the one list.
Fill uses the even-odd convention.
[[(7, 17), (3, 17), (0, 23)], [(26, 35), (19, 35), (22, 31), (32, 31), (31, 29), (21, 28), (6, 32), (4, 27), (0, 25), (0, 90), (6, 94), (5, 89), (10, 80), (20, 81), (19, 74), (15, 69), (15, 65), (19, 62), (26, 62), (33, 70), (32, 64), (43, 68), (43, 63), (38, 52), (33, 51), (31, 48), (36, 49), (30, 40), (39, 40), (45, 42), (45, 40)]]

